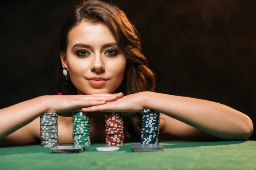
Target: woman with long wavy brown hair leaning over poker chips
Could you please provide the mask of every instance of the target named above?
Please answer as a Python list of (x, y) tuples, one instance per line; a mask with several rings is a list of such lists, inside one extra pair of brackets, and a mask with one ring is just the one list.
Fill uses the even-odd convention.
[(45, 112), (61, 115), (60, 143), (73, 142), (69, 116), (74, 111), (92, 112), (92, 142), (105, 142), (104, 112), (110, 111), (124, 112), (125, 140), (139, 140), (144, 108), (161, 113), (160, 140), (247, 140), (253, 131), (250, 118), (233, 108), (154, 93), (154, 74), (141, 53), (138, 33), (109, 3), (88, 0), (76, 6), (61, 31), (58, 60), (59, 80), (67, 79), (77, 95), (39, 96), (1, 109), (1, 146), (38, 143), (38, 116)]

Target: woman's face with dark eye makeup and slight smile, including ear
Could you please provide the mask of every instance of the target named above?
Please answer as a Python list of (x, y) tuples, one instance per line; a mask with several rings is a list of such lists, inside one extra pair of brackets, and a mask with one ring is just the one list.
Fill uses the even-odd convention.
[(122, 83), (126, 57), (103, 23), (82, 21), (72, 28), (60, 54), (78, 94), (113, 93)]

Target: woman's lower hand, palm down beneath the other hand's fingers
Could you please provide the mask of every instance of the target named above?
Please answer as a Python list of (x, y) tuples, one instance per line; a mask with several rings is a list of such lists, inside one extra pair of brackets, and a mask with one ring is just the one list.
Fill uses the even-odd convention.
[(103, 105), (94, 105), (82, 108), (83, 112), (128, 112), (136, 113), (144, 109), (145, 93), (140, 92), (136, 94), (130, 94), (119, 98), (113, 102), (107, 102)]

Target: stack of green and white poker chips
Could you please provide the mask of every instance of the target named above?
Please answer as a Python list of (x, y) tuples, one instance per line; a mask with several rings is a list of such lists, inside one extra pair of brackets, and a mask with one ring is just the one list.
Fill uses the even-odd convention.
[(90, 114), (73, 113), (73, 142), (74, 145), (90, 146)]

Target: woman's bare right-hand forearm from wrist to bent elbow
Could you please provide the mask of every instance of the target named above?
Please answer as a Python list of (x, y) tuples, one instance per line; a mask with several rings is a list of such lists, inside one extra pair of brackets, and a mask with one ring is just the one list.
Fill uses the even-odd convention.
[(145, 108), (154, 109), (221, 139), (247, 140), (251, 119), (216, 102), (183, 96), (145, 92)]

